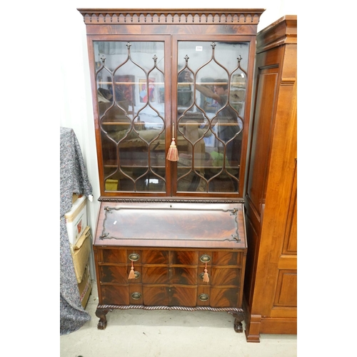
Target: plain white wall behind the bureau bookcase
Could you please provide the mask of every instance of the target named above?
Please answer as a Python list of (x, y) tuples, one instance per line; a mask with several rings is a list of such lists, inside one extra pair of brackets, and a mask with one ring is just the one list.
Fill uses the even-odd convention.
[[(69, 4), (67, 4), (69, 2)], [(74, 129), (81, 145), (86, 162), (89, 179), (94, 188), (94, 201), (89, 203), (89, 225), (96, 227), (96, 216), (99, 208), (99, 178), (96, 161), (96, 146), (94, 136), (94, 119), (91, 109), (91, 89), (89, 81), (89, 62), (86, 45), (86, 28), (83, 18), (77, 8), (118, 8), (121, 2), (117, 0), (82, 0), (61, 3), (61, 46), (56, 49), (59, 56), (59, 106), (60, 126)], [(224, 1), (224, 6), (218, 8), (234, 9), (266, 9), (261, 15), (258, 31), (284, 15), (297, 15), (297, 1), (293, 0), (256, 0), (256, 1)], [(206, 1), (180, 1), (180, 8), (207, 8)], [(155, 6), (147, 6), (147, 1), (134, 0), (131, 8), (175, 8), (177, 4), (167, 6), (167, 1), (157, 0)], [(129, 6), (123, 6), (128, 8)], [(208, 6), (214, 8), (215, 6)]]

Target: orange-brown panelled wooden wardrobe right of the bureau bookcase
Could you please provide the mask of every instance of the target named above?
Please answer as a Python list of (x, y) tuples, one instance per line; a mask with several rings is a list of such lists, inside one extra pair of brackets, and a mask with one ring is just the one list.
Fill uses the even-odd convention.
[(246, 176), (248, 342), (297, 333), (297, 16), (257, 34)]

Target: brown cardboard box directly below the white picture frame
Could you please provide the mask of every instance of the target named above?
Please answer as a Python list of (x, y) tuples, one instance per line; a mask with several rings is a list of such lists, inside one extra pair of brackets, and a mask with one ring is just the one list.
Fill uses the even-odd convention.
[(80, 283), (83, 280), (86, 263), (88, 263), (89, 256), (91, 254), (91, 243), (91, 227), (86, 226), (86, 229), (84, 229), (77, 243), (75, 245), (71, 245), (71, 253), (77, 283)]

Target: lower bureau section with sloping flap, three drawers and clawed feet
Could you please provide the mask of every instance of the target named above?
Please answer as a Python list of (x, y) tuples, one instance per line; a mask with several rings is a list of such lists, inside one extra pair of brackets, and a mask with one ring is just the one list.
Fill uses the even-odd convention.
[(101, 202), (98, 328), (142, 308), (226, 311), (241, 332), (246, 251), (242, 203)]

